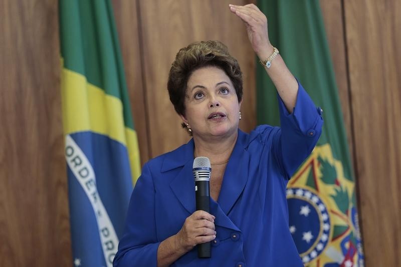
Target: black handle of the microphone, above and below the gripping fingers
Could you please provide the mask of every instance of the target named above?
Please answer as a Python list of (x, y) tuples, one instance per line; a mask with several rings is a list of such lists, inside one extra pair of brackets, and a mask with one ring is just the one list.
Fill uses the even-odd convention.
[[(205, 210), (210, 212), (210, 188), (209, 181), (195, 181), (196, 191), (196, 210)], [(200, 258), (211, 257), (211, 243), (197, 244), (197, 256)]]

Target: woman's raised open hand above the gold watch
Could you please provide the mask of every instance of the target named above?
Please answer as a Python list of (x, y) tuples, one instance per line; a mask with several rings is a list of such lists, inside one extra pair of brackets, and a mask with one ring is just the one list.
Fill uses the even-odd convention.
[(265, 14), (254, 4), (245, 6), (230, 5), (230, 11), (245, 23), (249, 41), (258, 57), (269, 56), (273, 52), (273, 46), (269, 41)]

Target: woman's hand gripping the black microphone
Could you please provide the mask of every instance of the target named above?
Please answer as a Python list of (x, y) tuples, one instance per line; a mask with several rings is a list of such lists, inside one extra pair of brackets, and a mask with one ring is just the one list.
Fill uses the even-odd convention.
[(197, 244), (212, 241), (216, 238), (215, 219), (215, 216), (204, 210), (193, 212), (176, 234), (176, 245), (189, 251)]

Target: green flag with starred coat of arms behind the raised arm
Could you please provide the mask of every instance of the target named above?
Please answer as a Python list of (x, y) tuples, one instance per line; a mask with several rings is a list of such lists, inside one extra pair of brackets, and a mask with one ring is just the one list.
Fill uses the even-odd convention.
[[(363, 266), (355, 182), (318, 0), (259, 1), (271, 43), (324, 111), (323, 132), (287, 186), (289, 228), (306, 266)], [(273, 63), (274, 64), (274, 61)], [(279, 125), (276, 90), (257, 67), (258, 123)]]

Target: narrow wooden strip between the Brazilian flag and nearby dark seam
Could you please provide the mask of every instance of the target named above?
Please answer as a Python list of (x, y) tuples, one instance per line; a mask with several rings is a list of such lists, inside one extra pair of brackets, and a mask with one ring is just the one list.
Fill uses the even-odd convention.
[(145, 109), (145, 90), (143, 86), (142, 55), (140, 49), (140, 31), (137, 1), (113, 0), (114, 16), (124, 62), (125, 77), (130, 96), (131, 110), (138, 135), (141, 164), (149, 159), (148, 135), (150, 125)]

